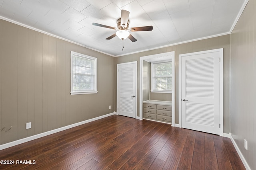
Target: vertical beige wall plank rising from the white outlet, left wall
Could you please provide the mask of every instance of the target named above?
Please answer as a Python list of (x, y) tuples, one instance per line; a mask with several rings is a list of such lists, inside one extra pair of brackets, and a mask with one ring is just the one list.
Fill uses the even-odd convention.
[(28, 121), (31, 129), (27, 129), (28, 136), (34, 135), (35, 122), (35, 31), (28, 34)]

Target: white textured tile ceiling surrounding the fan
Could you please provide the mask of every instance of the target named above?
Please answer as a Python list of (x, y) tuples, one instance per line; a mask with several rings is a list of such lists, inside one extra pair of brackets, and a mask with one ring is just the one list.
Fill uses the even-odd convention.
[[(232, 31), (248, 0), (0, 0), (0, 16), (112, 56), (121, 56)], [(134, 43), (114, 37), (121, 10), (130, 27), (152, 25), (131, 34)], [(122, 51), (124, 43), (124, 51)]]

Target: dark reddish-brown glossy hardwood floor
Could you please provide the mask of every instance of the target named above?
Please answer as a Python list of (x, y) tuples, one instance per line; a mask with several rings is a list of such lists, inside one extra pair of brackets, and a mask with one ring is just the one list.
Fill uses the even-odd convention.
[(228, 138), (119, 115), (0, 150), (0, 160), (14, 170), (245, 169)]

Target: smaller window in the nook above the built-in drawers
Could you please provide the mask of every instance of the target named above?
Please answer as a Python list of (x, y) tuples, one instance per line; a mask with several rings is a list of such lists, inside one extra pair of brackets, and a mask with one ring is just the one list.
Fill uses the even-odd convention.
[(172, 93), (172, 61), (151, 63), (151, 92)]

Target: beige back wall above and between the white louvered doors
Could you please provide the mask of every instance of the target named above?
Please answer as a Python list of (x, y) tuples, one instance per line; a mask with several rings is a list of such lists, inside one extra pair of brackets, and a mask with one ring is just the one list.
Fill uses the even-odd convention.
[[(138, 42), (139, 43), (139, 40)], [(178, 123), (178, 63), (179, 55), (185, 53), (192, 53), (198, 51), (205, 51), (211, 49), (224, 48), (224, 133), (230, 132), (230, 107), (229, 107), (229, 87), (230, 87), (230, 35), (224, 35), (220, 37), (214, 37), (209, 39), (204, 39), (200, 41), (194, 41), (190, 43), (184, 43), (180, 45), (173, 45), (170, 47), (165, 47), (161, 49), (145, 51), (141, 53), (126, 55), (122, 57), (116, 57), (116, 64), (126, 63), (131, 61), (138, 62), (138, 94), (139, 96), (139, 72), (140, 72), (140, 57), (147, 55), (154, 55), (159, 53), (166, 53), (170, 51), (175, 51), (175, 123)], [(116, 85), (116, 83), (115, 83)], [(139, 115), (140, 102), (138, 97), (137, 102), (137, 115)]]

